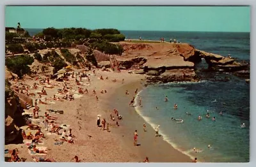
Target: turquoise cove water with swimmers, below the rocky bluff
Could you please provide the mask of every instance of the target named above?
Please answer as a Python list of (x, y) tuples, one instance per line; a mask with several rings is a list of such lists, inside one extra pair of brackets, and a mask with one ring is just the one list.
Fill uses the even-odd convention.
[[(147, 87), (139, 96), (143, 107), (137, 106), (137, 112), (152, 127), (159, 124), (164, 140), (176, 149), (203, 162), (249, 161), (250, 86), (243, 80), (167, 83)], [(165, 96), (168, 102), (164, 102)], [(177, 110), (173, 109), (175, 103)], [(207, 110), (210, 119), (205, 117)], [(182, 118), (184, 123), (177, 123), (172, 117)], [(246, 127), (241, 128), (243, 122)], [(193, 151), (194, 147), (198, 153)]]

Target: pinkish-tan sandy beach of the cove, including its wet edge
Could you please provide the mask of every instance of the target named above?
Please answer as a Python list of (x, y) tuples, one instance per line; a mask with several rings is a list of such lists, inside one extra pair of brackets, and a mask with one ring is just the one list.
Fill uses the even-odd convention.
[[(77, 73), (75, 69), (75, 73)], [(188, 156), (173, 149), (171, 145), (164, 142), (161, 137), (154, 136), (154, 129), (147, 125), (147, 132), (143, 131), (143, 119), (135, 112), (134, 108), (129, 106), (129, 101), (134, 96), (136, 88), (143, 89), (143, 80), (145, 76), (129, 74), (127, 71), (114, 73), (110, 71), (92, 71), (86, 72), (90, 74), (90, 83), (86, 78), (82, 78), (81, 85), (76, 85), (75, 78), (69, 78), (66, 81), (67, 87), (72, 87), (68, 92), (74, 94), (74, 101), (64, 100), (55, 101), (52, 99), (54, 94), (58, 96), (58, 89), (63, 87), (63, 82), (56, 82), (50, 80), (53, 88), (45, 87), (47, 96), (42, 96), (42, 101), (47, 98), (48, 105), (39, 104), (39, 116), (43, 116), (47, 110), (63, 110), (62, 114), (49, 113), (54, 117), (58, 117), (56, 122), (59, 124), (69, 125), (72, 129), (74, 143), (64, 142), (63, 145), (54, 145), (56, 141), (60, 141), (60, 135), (51, 134), (47, 131), (42, 132), (45, 134), (43, 144), (38, 146), (47, 147), (47, 155), (45, 158), (52, 158), (56, 162), (72, 162), (74, 156), (78, 156), (81, 162), (142, 162), (145, 157), (149, 158), (150, 162), (189, 162), (191, 161)], [(104, 80), (100, 80), (100, 76)], [(106, 79), (108, 77), (108, 79)], [(116, 82), (113, 80), (116, 79)], [(124, 81), (122, 81), (124, 79)], [(38, 80), (24, 80), (25, 85), (32, 86), (33, 83), (38, 83)], [(13, 83), (15, 84), (15, 83)], [(47, 83), (45, 83), (46, 85)], [(38, 89), (31, 89), (29, 92), (38, 92), (45, 85), (38, 85)], [(88, 89), (88, 94), (79, 94), (78, 87)], [(99, 101), (93, 94), (93, 89)], [(106, 90), (105, 93), (100, 91)], [(125, 90), (131, 94), (125, 96)], [(60, 97), (60, 96), (58, 96)], [(38, 98), (38, 94), (33, 98), (33, 101)], [(33, 108), (25, 110), (26, 113), (33, 114)], [(118, 120), (113, 113), (113, 108), (116, 108), (120, 115), (123, 116), (122, 120)], [(115, 115), (115, 120), (118, 120), (119, 127), (116, 126), (116, 121), (110, 119), (110, 114)], [(109, 132), (97, 127), (97, 115), (101, 115), (100, 119), (106, 119), (110, 124)], [(39, 126), (43, 127), (42, 117), (35, 120)], [(35, 122), (32, 122), (35, 124)], [(23, 127), (22, 127), (23, 128)], [(26, 134), (31, 131), (35, 134), (35, 130), (25, 129)], [(138, 143), (140, 146), (133, 145), (134, 130), (138, 130)], [(62, 131), (61, 131), (62, 132)], [(48, 134), (49, 135), (48, 135)], [(5, 145), (5, 149), (19, 150), (19, 157), (26, 158), (26, 161), (33, 161), (33, 157), (28, 152), (28, 146), (25, 143)], [(6, 160), (10, 155), (5, 154)]]

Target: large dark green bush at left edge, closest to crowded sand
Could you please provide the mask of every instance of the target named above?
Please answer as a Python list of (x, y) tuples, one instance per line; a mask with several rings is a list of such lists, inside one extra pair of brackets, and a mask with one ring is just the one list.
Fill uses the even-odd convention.
[(34, 59), (30, 55), (19, 55), (17, 57), (6, 58), (5, 64), (10, 71), (17, 74), (19, 78), (22, 78), (23, 75), (31, 72), (28, 65), (31, 65), (33, 62)]

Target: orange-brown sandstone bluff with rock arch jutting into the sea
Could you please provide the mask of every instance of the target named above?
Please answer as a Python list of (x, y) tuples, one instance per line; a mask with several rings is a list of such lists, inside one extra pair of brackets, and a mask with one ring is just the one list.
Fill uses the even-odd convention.
[(198, 50), (188, 43), (120, 42), (124, 53), (117, 56), (120, 69), (148, 75), (148, 80), (172, 82), (196, 80), (195, 64), (205, 59), (209, 69), (243, 70), (248, 65), (232, 58)]

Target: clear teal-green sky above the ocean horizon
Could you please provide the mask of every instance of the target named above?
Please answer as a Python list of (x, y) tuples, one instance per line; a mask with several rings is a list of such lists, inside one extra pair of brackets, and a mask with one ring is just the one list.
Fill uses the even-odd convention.
[(250, 32), (250, 6), (6, 6), (5, 26)]

